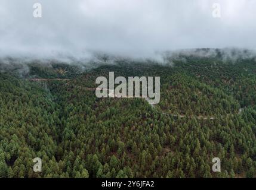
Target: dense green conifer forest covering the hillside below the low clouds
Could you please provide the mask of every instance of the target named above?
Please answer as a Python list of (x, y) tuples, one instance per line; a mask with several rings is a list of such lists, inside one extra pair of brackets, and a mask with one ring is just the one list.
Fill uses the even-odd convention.
[[(255, 178), (256, 59), (170, 62), (0, 63), (0, 178)], [(109, 72), (161, 77), (159, 104), (97, 98)]]

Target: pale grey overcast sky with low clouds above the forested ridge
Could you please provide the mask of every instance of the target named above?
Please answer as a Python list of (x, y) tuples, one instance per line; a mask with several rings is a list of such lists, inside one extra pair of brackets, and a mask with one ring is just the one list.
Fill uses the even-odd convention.
[[(33, 17), (36, 2), (42, 18)], [(212, 16), (214, 3), (221, 5), (220, 18)], [(1, 0), (0, 55), (255, 49), (255, 18), (255, 0)]]

